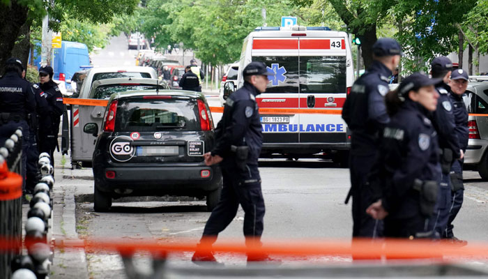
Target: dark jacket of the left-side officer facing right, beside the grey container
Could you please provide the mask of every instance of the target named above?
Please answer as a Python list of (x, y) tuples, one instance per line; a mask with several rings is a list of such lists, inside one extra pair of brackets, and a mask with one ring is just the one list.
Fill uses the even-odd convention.
[(45, 124), (48, 126), (48, 122), (52, 124), (52, 133), (57, 133), (59, 130), (59, 122), (61, 121), (61, 115), (63, 115), (64, 110), (66, 110), (65, 105), (63, 104), (63, 94), (58, 88), (58, 84), (49, 80), (49, 82), (45, 82), (44, 84), (38, 84), (40, 89), (43, 89), (45, 93), (45, 100), (47, 101), (47, 105), (49, 106), (49, 117), (46, 119), (42, 119), (40, 123)]

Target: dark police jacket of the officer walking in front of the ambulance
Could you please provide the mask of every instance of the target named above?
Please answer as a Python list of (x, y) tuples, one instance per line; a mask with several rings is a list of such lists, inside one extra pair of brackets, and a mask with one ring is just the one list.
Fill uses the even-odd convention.
[(247, 165), (257, 167), (257, 160), (261, 153), (263, 135), (261, 134), (261, 120), (256, 103), (259, 94), (256, 87), (249, 82), (232, 93), (224, 106), (224, 114), (215, 129), (215, 147), (212, 155), (218, 155), (224, 160), (221, 167), (234, 165), (235, 153), (231, 146), (248, 146)]

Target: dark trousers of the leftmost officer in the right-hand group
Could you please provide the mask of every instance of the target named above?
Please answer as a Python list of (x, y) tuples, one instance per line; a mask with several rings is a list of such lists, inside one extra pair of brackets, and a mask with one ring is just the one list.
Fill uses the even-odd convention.
[(358, 156), (353, 153), (350, 156), (353, 237), (383, 236), (383, 221), (374, 220), (366, 213), (367, 207), (376, 202), (374, 190), (366, 183), (374, 160), (375, 156)]

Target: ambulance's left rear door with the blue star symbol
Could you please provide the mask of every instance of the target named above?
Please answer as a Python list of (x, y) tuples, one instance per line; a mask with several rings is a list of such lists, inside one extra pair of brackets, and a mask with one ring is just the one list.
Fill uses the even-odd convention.
[[(254, 37), (252, 40), (252, 61), (262, 61), (268, 70), (276, 73), (275, 77), (270, 77), (266, 91), (257, 96), (259, 108), (264, 110), (261, 112), (261, 123), (266, 153), (273, 150), (282, 153), (298, 147), (298, 43), (298, 38), (285, 36)], [(284, 112), (266, 112), (266, 109), (284, 109)]]

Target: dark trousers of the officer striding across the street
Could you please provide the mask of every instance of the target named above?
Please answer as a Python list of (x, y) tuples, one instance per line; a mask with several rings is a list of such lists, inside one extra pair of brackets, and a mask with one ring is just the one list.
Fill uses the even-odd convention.
[(222, 176), (224, 183), (220, 200), (208, 218), (203, 236), (208, 243), (215, 242), (218, 234), (234, 220), (241, 204), (244, 210), (243, 232), (246, 241), (260, 241), (265, 209), (257, 166), (248, 165), (247, 172), (244, 173), (234, 167), (222, 167)]

